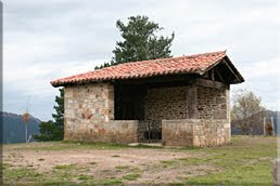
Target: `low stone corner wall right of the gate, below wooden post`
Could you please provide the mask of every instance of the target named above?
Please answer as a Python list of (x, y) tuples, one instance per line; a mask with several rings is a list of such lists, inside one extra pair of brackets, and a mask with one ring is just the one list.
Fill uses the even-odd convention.
[(231, 141), (228, 120), (181, 119), (162, 121), (162, 141), (167, 146), (217, 146)]

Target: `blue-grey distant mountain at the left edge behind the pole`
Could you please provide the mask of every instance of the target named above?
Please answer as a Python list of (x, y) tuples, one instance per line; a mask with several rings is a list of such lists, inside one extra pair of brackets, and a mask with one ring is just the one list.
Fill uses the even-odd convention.
[[(1, 111), (0, 116), (3, 121), (2, 125), (2, 140), (3, 144), (12, 144), (12, 143), (25, 143), (25, 129), (24, 121), (22, 115), (11, 114)], [(39, 124), (41, 121), (33, 116), (28, 121), (27, 134), (34, 135), (39, 134)]]

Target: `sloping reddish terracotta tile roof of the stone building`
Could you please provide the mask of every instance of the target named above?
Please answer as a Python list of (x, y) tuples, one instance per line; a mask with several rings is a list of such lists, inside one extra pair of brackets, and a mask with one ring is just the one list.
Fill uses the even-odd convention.
[(180, 57), (130, 62), (51, 81), (53, 87), (104, 80), (139, 79), (161, 75), (199, 74), (207, 71), (225, 56), (226, 51)]

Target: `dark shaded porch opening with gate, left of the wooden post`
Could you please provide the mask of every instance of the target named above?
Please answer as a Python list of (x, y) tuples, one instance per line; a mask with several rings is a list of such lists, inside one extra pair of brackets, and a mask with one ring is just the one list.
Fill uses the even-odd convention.
[(114, 83), (114, 120), (138, 120), (140, 143), (162, 142), (163, 120), (188, 118), (190, 79), (169, 76)]

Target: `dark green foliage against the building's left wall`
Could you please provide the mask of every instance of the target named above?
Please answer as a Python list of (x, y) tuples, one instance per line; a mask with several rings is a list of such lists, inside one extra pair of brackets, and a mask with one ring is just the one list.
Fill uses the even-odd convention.
[(40, 134), (35, 135), (36, 141), (61, 141), (64, 131), (64, 89), (60, 89), (60, 95), (55, 96), (56, 105), (53, 107), (55, 114), (52, 115), (54, 121), (40, 123)]

